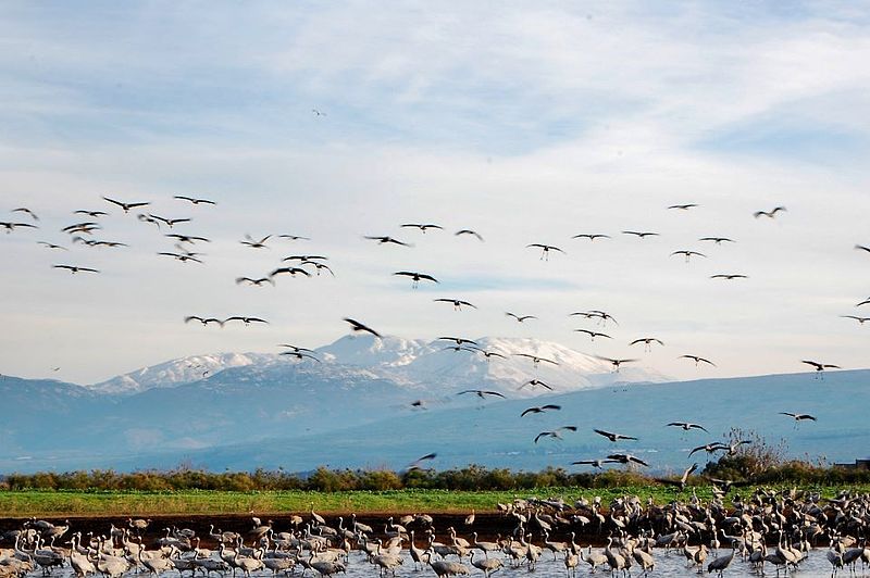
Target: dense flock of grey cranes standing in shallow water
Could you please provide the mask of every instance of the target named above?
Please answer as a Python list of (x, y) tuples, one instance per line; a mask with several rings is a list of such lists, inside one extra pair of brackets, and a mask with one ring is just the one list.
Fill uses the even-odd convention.
[[(736, 564), (744, 573), (763, 576), (772, 567), (778, 576), (787, 575), (821, 549), (832, 577), (845, 568), (856, 573), (859, 564), (862, 571), (870, 567), (869, 495), (843, 492), (822, 500), (810, 491), (759, 488), (745, 497), (734, 491), (728, 500), (732, 485), (711, 481), (713, 497), (708, 503), (694, 492), (685, 502), (667, 504), (651, 499), (644, 503), (636, 495), (623, 495), (607, 505), (600, 497), (573, 504), (561, 498), (515, 499), (499, 503), (498, 514), (488, 515), (490, 528), (504, 533), (493, 531), (489, 540), (478, 539), (473, 510), (460, 527), (465, 536), (452, 526), (436, 530), (435, 519), (427, 514), (396, 520), (390, 516), (382, 524), (372, 518), (375, 527), (358, 520), (356, 514), (347, 520), (338, 516), (330, 524), (314, 512), (313, 504), (307, 519), (288, 516), (284, 529), (271, 519), (263, 523), (252, 517), (248, 530), (222, 531), (211, 524), (201, 537), (194, 529), (172, 526), (158, 538), (149, 532), (151, 520), (141, 518), (113, 524), (99, 536), (72, 531), (69, 520), (54, 525), (32, 518), (2, 535), (13, 545), (0, 549), (0, 577), (37, 571), (51, 576), (69, 565), (76, 578), (98, 574), (121, 578), (132, 573), (184, 576), (188, 571), (191, 578), (198, 573), (250, 578), (289, 576), (297, 569), (302, 576), (310, 570), (328, 578), (347, 574), (351, 561), (368, 563), (381, 577), (396, 576), (406, 564), (413, 570), (428, 567), (438, 578), (475, 570), (489, 578), (502, 569), (534, 571), (539, 564), (549, 566), (544, 571), (550, 574), (563, 567), (569, 578), (581, 566), (591, 573), (601, 568), (611, 577), (627, 577), (632, 571), (655, 573), (664, 560), (669, 567), (679, 568), (683, 561), (687, 571), (706, 569), (721, 578)], [(577, 543), (579, 537), (588, 543)], [(592, 542), (602, 540), (604, 549), (593, 548)]]

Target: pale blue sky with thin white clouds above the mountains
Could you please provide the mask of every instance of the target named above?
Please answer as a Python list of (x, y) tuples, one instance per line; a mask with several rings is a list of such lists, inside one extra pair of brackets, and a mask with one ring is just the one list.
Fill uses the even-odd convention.
[[(850, 2), (4, 2), (0, 222), (39, 228), (0, 233), (0, 373), (89, 384), (185, 355), (313, 348), (347, 335), (343, 317), (407, 338), (536, 337), (676, 379), (801, 360), (867, 367), (870, 324), (841, 316), (870, 316), (856, 306), (870, 252), (855, 249), (870, 246), (869, 14)], [(103, 197), (192, 221), (158, 228)], [(678, 203), (698, 206), (667, 209)], [(787, 210), (753, 216), (774, 206)], [(128, 247), (73, 243), (60, 229), (76, 210), (111, 213), (92, 238)], [(484, 241), (453, 235), (463, 228)], [(211, 239), (189, 246), (202, 263), (158, 255), (174, 250), (169, 233)], [(572, 239), (584, 233), (611, 239)], [(246, 234), (310, 240), (251, 249)], [(545, 261), (531, 243), (563, 253)], [(335, 277), (234, 282), (291, 254), (328, 256)], [(440, 282), (414, 290), (398, 271)], [(748, 278), (710, 279), (723, 273)], [(587, 310), (619, 325), (569, 316)], [(650, 336), (664, 347), (629, 345)]]

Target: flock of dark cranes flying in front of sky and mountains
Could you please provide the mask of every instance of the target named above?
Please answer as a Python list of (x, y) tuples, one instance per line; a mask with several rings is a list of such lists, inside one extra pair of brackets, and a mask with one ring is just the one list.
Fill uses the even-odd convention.
[[(115, 198), (103, 197), (103, 202), (107, 203), (104, 209), (112, 208), (113, 210), (117, 211), (121, 210), (124, 214), (129, 214), (134, 212), (136, 215), (136, 219), (146, 223), (149, 225), (154, 225), (156, 230), (161, 233), (163, 237), (171, 242), (174, 243), (173, 251), (159, 251), (157, 252), (160, 256), (170, 256), (173, 257), (182, 263), (195, 263), (195, 264), (202, 264), (204, 262), (204, 254), (195, 251), (194, 249), (202, 243), (209, 243), (211, 240), (203, 235), (195, 234), (195, 233), (179, 233), (176, 230), (177, 226), (189, 226), (194, 223), (194, 218), (191, 217), (166, 217), (153, 212), (150, 212), (151, 203), (146, 201), (128, 201), (128, 200), (119, 200)], [(201, 208), (201, 206), (212, 206), (216, 203), (209, 199), (196, 198), (196, 197), (188, 197), (188, 196), (175, 196), (174, 201), (184, 203), (190, 208)], [(698, 208), (696, 203), (683, 203), (683, 204), (673, 204), (667, 208), (668, 211), (678, 211), (678, 212), (688, 212), (694, 209)], [(141, 211), (141, 212), (139, 212)], [(786, 209), (784, 206), (775, 206), (770, 211), (757, 211), (754, 213), (755, 218), (768, 218), (773, 219), (780, 216), (781, 214), (785, 213)], [(10, 219), (5, 222), (0, 222), (0, 228), (7, 230), (8, 234), (12, 233), (20, 233), (20, 229), (24, 230), (39, 230), (40, 228), (40, 219), (39, 216), (33, 210), (28, 208), (18, 208), (12, 211), (13, 214), (18, 216), (26, 216), (27, 219)], [(75, 223), (64, 224), (64, 226), (60, 229), (63, 234), (69, 236), (69, 246), (76, 246), (80, 244), (83, 247), (88, 248), (124, 248), (127, 247), (126, 243), (116, 240), (104, 240), (97, 238), (97, 235), (100, 234), (102, 230), (102, 223), (111, 217), (108, 211), (103, 211), (102, 209), (87, 209), (87, 210), (77, 210), (74, 211), (74, 215), (82, 217), (77, 219)], [(433, 231), (442, 231), (444, 227), (435, 224), (435, 223), (405, 223), (399, 226), (402, 230), (415, 230), (418, 234), (421, 235), (432, 235)], [(659, 233), (651, 231), (651, 230), (622, 230), (622, 235), (627, 237), (636, 237), (638, 239), (646, 239), (649, 237), (656, 237)], [(469, 228), (459, 229), (455, 233), (456, 237), (460, 238), (470, 238), (474, 239), (477, 242), (484, 242), (484, 237), (478, 234), (477, 231)], [(403, 247), (403, 248), (411, 248), (413, 243), (407, 242), (400, 239), (397, 239), (393, 236), (388, 235), (364, 235), (362, 236), (364, 241), (373, 241), (380, 246), (396, 246), (396, 247)], [(589, 242), (600, 242), (602, 239), (609, 239), (610, 236), (602, 234), (602, 233), (581, 233), (573, 236), (573, 239), (583, 239), (588, 240)], [(284, 240), (284, 241), (310, 241), (308, 237), (303, 237), (300, 235), (290, 235), (290, 234), (273, 234), (273, 235), (265, 235), (262, 237), (252, 237), (250, 235), (246, 235), (241, 240), (238, 242), (251, 251), (261, 251), (263, 249), (268, 249), (270, 243), (273, 240)], [(722, 236), (705, 236), (698, 239), (699, 242), (704, 243), (711, 243), (714, 246), (721, 246), (724, 243), (734, 243), (737, 242), (735, 239), (730, 237), (722, 237)], [(69, 247), (58, 242), (49, 242), (46, 240), (37, 241), (41, 246), (46, 247), (55, 252), (65, 252), (67, 251)], [(540, 251), (540, 260), (549, 260), (554, 254), (564, 254), (566, 251), (557, 246), (543, 243), (543, 242), (532, 242), (527, 243), (527, 249), (531, 250), (538, 250)], [(856, 244), (855, 248), (860, 251), (870, 252), (870, 248), (861, 244)], [(695, 257), (707, 257), (707, 255), (700, 251), (696, 251), (694, 249), (679, 249), (671, 252), (671, 256), (683, 256), (686, 261)], [(71, 274), (79, 274), (79, 273), (87, 273), (87, 274), (98, 274), (100, 273), (99, 269), (90, 266), (83, 265), (78, 262), (66, 262), (66, 263), (54, 263), (52, 267), (57, 269), (64, 269), (69, 271)], [(274, 286), (276, 279), (279, 277), (316, 277), (321, 274), (326, 273), (332, 276), (335, 276), (335, 272), (328, 265), (328, 257), (323, 254), (291, 254), (287, 256), (281, 257), (279, 262), (275, 264), (275, 266), (268, 273), (261, 276), (238, 276), (235, 278), (235, 282), (238, 285), (250, 285), (250, 286), (263, 286), (263, 285), (272, 285)], [(396, 277), (403, 277), (411, 281), (412, 287), (418, 287), (421, 282), (427, 284), (439, 284), (438, 278), (430, 273), (419, 272), (419, 271), (410, 271), (410, 269), (402, 269), (396, 271), (393, 273)], [(747, 275), (739, 273), (739, 272), (725, 272), (725, 273), (717, 273), (710, 275), (712, 279), (722, 279), (726, 281), (733, 281), (737, 279), (746, 279), (748, 278)], [(445, 303), (451, 305), (455, 310), (461, 311), (463, 307), (468, 309), (477, 309), (475, 304), (472, 302), (460, 299), (457, 297), (439, 297), (433, 300), (437, 303)], [(857, 303), (857, 307), (861, 307), (863, 305), (870, 304), (870, 298)], [(505, 312), (505, 316), (517, 322), (520, 324), (527, 324), (536, 319), (537, 317), (533, 314), (529, 313), (518, 313), (518, 312)], [(569, 314), (572, 318), (583, 318), (591, 321), (596, 324), (594, 328), (589, 327), (582, 327), (574, 329), (574, 331), (583, 334), (589, 338), (592, 342), (595, 340), (601, 339), (609, 339), (613, 340), (614, 337), (606, 331), (606, 328), (609, 324), (613, 326), (619, 325), (616, 317), (601, 310), (586, 310), (586, 311), (575, 311)], [(843, 315), (843, 317), (856, 319), (859, 324), (863, 325), (870, 317), (862, 317), (859, 315)], [(359, 321), (359, 318), (355, 317), (345, 317), (344, 321), (348, 324), (351, 334), (369, 334), (376, 339), (382, 338), (382, 332), (376, 330), (372, 325)], [(186, 324), (198, 324), (203, 327), (225, 327), (227, 324), (231, 323), (238, 323), (244, 326), (251, 326), (251, 325), (268, 325), (270, 322), (266, 318), (261, 316), (254, 315), (229, 315), (229, 316), (219, 316), (219, 315), (201, 315), (201, 314), (190, 314), (184, 317), (184, 322)], [(505, 352), (505, 351), (496, 351), (496, 350), (487, 350), (478, 345), (476, 341), (473, 339), (469, 339), (465, 337), (455, 337), (455, 336), (444, 336), (437, 338), (436, 342), (443, 342), (445, 344), (446, 351), (455, 351), (455, 352), (463, 352), (470, 355), (480, 355), (486, 362), (496, 362), (499, 359), (507, 359), (508, 356), (514, 357), (523, 357), (527, 359), (533, 368), (537, 368), (542, 364), (546, 365), (559, 365), (557, 360), (547, 359), (535, 352), (522, 352), (522, 351), (514, 351), (514, 352)], [(632, 339), (629, 342), (629, 347), (636, 348), (643, 347), (645, 352), (649, 352), (654, 347), (663, 347), (664, 341), (660, 339), (658, 336), (643, 336)], [(289, 343), (282, 343), (282, 348), (284, 351), (281, 352), (283, 355), (287, 355), (288, 357), (295, 359), (297, 362), (321, 362), (318, 359), (316, 353), (313, 349), (299, 347)], [(599, 360), (609, 364), (613, 372), (619, 372), (620, 367), (638, 362), (638, 357), (607, 357), (607, 356), (597, 356)], [(708, 356), (698, 355), (695, 353), (683, 353), (678, 355), (678, 359), (684, 359), (688, 362), (695, 364), (695, 366), (710, 366), (716, 367), (716, 363), (710, 360)], [(820, 362), (816, 360), (801, 360), (803, 364), (809, 365), (818, 373), (819, 376), (823, 375), (825, 369), (833, 369), (838, 368), (838, 365)], [(555, 390), (551, 385), (546, 384), (542, 379), (533, 378), (527, 380), (526, 382), (520, 386), (520, 389), (530, 387), (530, 388), (542, 388), (546, 390)], [(506, 398), (506, 395), (499, 391), (495, 391), (492, 389), (468, 389), (459, 392), (459, 394), (474, 394), (481, 399), (486, 398)], [(418, 402), (415, 402), (418, 403)], [(420, 402), (422, 403), (422, 402)], [(538, 413), (549, 413), (549, 412), (558, 412), (561, 407), (556, 404), (547, 404), (543, 406), (535, 406), (530, 407), (522, 413), (522, 416), (526, 416), (529, 414), (538, 414)], [(816, 417), (803, 413), (803, 412), (781, 412), (783, 415), (788, 416), (795, 419), (795, 424), (803, 422), (803, 420), (816, 420)], [(669, 426), (680, 426), (683, 427), (685, 431), (691, 429), (699, 429), (707, 431), (703, 426), (697, 424), (689, 424), (689, 423), (672, 423)], [(562, 437), (569, 432), (576, 432), (577, 427), (574, 425), (561, 425), (554, 429), (545, 430), (538, 432), (533, 438), (534, 443), (540, 442), (543, 439), (551, 439), (551, 440), (561, 440)], [(636, 440), (636, 436), (626, 436), (621, 434), (614, 434), (605, 431), (601, 429), (595, 429), (595, 432), (608, 438), (611, 442), (617, 443), (620, 440)], [(738, 440), (743, 443), (743, 440)], [(737, 444), (737, 448), (739, 443)], [(689, 455), (694, 454), (698, 451), (706, 451), (708, 454), (711, 454), (717, 451), (726, 451), (730, 453), (734, 453), (736, 451), (733, 444), (726, 444), (722, 442), (711, 442), (695, 448), (689, 452)], [(612, 452), (609, 453), (606, 457), (597, 457), (597, 458), (589, 458), (589, 460), (580, 460), (574, 462), (575, 465), (591, 465), (593, 467), (601, 467), (602, 464), (609, 463), (620, 463), (620, 464), (629, 464), (629, 465), (639, 465), (639, 466), (648, 466), (649, 464), (630, 453), (624, 452)], [(685, 476), (684, 476), (685, 477)]]

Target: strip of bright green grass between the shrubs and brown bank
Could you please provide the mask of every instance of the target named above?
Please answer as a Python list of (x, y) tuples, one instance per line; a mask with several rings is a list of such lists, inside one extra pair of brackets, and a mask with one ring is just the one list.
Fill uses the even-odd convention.
[[(805, 487), (834, 497), (845, 487)], [(854, 491), (870, 491), (869, 487), (849, 487)], [(710, 499), (710, 487), (696, 488), (701, 500)], [(623, 488), (540, 488), (517, 491), (447, 491), (447, 490), (390, 490), (390, 491), (0, 491), (2, 517), (59, 517), (59, 516), (150, 516), (150, 515), (208, 515), (258, 513), (304, 513), (314, 504), (320, 513), (462, 513), (495, 511), (498, 502), (508, 503), (514, 498), (561, 497), (568, 503), (600, 495), (605, 504), (617, 497), (636, 494), (642, 500), (652, 498), (664, 503), (678, 497), (687, 500), (692, 489), (678, 494), (675, 489), (661, 486)]]

